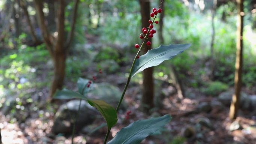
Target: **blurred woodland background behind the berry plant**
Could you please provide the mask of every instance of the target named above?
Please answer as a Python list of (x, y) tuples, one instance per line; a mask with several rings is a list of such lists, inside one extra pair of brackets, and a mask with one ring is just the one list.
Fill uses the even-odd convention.
[[(141, 20), (145, 3), (150, 10), (159, 5), (158, 0), (1, 0), (3, 144), (70, 143), (72, 120), (67, 114), (64, 120), (70, 126), (61, 127), (56, 113), (77, 101), (52, 101), (52, 95), (61, 88), (76, 91), (79, 77), (96, 76), (89, 96), (116, 105), (136, 53), (134, 45), (140, 43), (141, 25), (147, 25)], [(162, 9), (152, 48), (170, 43), (192, 46), (153, 68), (150, 87), (146, 72), (131, 80), (112, 137), (135, 120), (170, 114), (170, 124), (143, 144), (255, 143), (256, 1), (244, 0), (244, 62), (236, 120), (228, 118), (234, 94), (236, 2), (164, 0)], [(84, 113), (76, 143), (102, 144), (106, 127), (95, 128), (104, 120), (93, 110)]]

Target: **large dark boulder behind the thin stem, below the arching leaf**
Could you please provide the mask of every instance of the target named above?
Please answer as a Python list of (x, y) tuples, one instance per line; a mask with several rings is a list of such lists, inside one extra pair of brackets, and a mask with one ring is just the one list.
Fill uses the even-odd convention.
[[(72, 133), (73, 119), (71, 117), (76, 117), (79, 107), (79, 101), (80, 100), (78, 99), (71, 100), (66, 104), (60, 106), (60, 108), (54, 116), (54, 125), (52, 126), (52, 132), (54, 134)], [(91, 124), (96, 119), (96, 115), (96, 108), (89, 105), (87, 101), (82, 100), (79, 118), (77, 119), (76, 123), (76, 131), (80, 131), (80, 129), (82, 129), (83, 126)]]

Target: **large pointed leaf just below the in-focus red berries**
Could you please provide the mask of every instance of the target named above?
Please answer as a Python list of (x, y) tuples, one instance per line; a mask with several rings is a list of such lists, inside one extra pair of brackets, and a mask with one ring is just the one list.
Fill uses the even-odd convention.
[(149, 50), (145, 55), (140, 56), (134, 64), (131, 77), (143, 71), (146, 68), (153, 67), (161, 64), (163, 61), (173, 58), (185, 49), (188, 49), (191, 44), (178, 44), (178, 45), (161, 45), (158, 48)]

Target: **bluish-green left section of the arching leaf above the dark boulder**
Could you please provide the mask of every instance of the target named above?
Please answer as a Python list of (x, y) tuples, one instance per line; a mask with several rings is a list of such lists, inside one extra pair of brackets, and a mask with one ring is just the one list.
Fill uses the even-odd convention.
[(57, 92), (55, 92), (53, 98), (54, 99), (74, 99), (74, 98), (86, 99), (85, 96), (83, 96), (77, 92), (68, 90), (68, 89), (57, 90)]

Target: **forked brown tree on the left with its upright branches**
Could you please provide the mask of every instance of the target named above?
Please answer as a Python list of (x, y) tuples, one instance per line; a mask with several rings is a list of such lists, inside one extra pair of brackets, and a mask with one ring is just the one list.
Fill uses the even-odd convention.
[(58, 12), (57, 12), (57, 33), (56, 38), (52, 37), (48, 32), (48, 27), (45, 24), (43, 3), (41, 0), (34, 0), (36, 10), (37, 10), (37, 20), (42, 31), (43, 40), (45, 42), (46, 48), (49, 50), (49, 53), (54, 62), (54, 77), (52, 80), (51, 89), (49, 91), (48, 100), (52, 101), (52, 96), (57, 89), (62, 89), (65, 77), (65, 61), (67, 57), (68, 48), (70, 47), (71, 40), (73, 39), (74, 26), (76, 23), (76, 15), (79, 0), (74, 2), (74, 10), (71, 21), (71, 30), (68, 33), (67, 39), (65, 40), (65, 31), (64, 31), (64, 21), (65, 21), (65, 1), (58, 0)]

